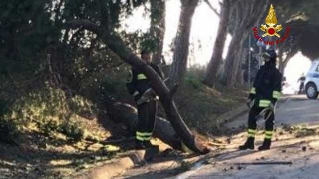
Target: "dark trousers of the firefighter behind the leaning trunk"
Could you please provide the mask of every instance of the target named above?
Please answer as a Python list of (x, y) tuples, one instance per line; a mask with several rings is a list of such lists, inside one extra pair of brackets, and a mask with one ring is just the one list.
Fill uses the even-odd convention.
[(136, 137), (140, 141), (149, 141), (151, 139), (157, 114), (157, 101), (143, 103), (137, 106), (139, 122), (137, 126)]

